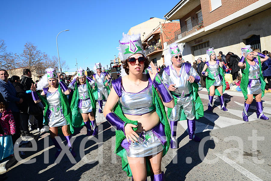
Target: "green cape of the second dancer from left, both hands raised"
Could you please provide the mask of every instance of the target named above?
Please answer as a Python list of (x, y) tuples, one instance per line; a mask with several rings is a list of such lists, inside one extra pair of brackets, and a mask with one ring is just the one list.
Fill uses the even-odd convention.
[[(91, 91), (92, 87), (89, 85), (89, 81), (86, 81), (86, 85), (87, 85), (88, 95), (89, 95), (91, 105), (92, 105), (92, 112), (95, 117), (95, 115), (96, 115), (96, 101), (95, 101), (94, 96), (92, 94), (92, 91)], [(79, 95), (78, 95), (78, 87), (77, 87), (77, 82), (76, 82), (75, 89), (73, 91), (73, 98), (70, 103), (73, 127), (83, 127), (85, 125), (83, 122), (83, 118), (80, 113), (79, 107), (78, 107), (78, 102), (79, 102)]]

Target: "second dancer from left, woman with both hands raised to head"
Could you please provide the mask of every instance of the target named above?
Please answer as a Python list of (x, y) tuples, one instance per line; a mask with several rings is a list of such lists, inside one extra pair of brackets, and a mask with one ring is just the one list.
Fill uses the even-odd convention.
[[(73, 126), (82, 127), (83, 125), (86, 125), (87, 136), (95, 136), (98, 134), (98, 127), (95, 120), (96, 101), (94, 100), (94, 96), (90, 90), (94, 83), (95, 81), (89, 76), (86, 76), (85, 71), (80, 67), (77, 71), (77, 77), (75, 77), (68, 86), (70, 89), (74, 90), (71, 102)], [(82, 117), (78, 115), (78, 113), (80, 113)], [(82, 124), (82, 119), (84, 124)], [(93, 131), (91, 129), (90, 122), (92, 124)]]

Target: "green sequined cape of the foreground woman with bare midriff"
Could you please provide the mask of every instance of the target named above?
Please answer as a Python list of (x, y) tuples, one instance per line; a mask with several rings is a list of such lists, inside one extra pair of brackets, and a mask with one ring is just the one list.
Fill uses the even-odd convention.
[[(164, 124), (164, 126), (165, 126), (165, 134), (167, 137), (167, 141), (163, 146), (163, 148), (164, 148), (163, 156), (164, 156), (164, 155), (166, 155), (166, 153), (169, 149), (169, 146), (170, 146), (170, 136), (171, 136), (170, 125), (167, 120), (165, 107), (164, 107), (162, 101), (160, 100), (160, 97), (158, 96), (157, 91), (155, 90), (153, 85), (152, 85), (152, 91), (153, 91), (153, 104), (156, 107), (157, 115), (159, 116), (161, 123)], [(122, 112), (120, 105), (118, 103), (114, 108), (114, 113), (125, 122), (124, 126), (128, 123), (137, 125), (137, 121), (129, 120), (123, 115), (123, 112)], [(133, 129), (135, 131), (137, 130), (137, 128), (133, 128)], [(126, 150), (120, 145), (124, 139), (126, 139), (126, 137), (125, 137), (123, 131), (116, 130), (116, 146), (115, 146), (114, 152), (121, 157), (122, 169), (124, 171), (126, 171), (127, 176), (132, 176), (132, 172), (131, 172), (130, 166), (128, 164), (127, 156), (126, 156)], [(147, 176), (152, 175), (148, 161), (146, 161), (146, 171), (147, 171)]]

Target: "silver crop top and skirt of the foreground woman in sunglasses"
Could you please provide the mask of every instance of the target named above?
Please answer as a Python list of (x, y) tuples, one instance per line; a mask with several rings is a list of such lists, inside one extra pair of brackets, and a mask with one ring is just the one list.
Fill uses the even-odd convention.
[[(155, 110), (155, 106), (152, 103), (153, 93), (150, 82), (148, 87), (138, 93), (126, 92), (122, 85), (121, 89), (122, 95), (119, 99), (119, 103), (124, 114), (143, 115)], [(141, 137), (138, 139), (139, 143), (131, 142), (129, 152), (126, 150), (127, 156), (146, 157), (155, 155), (164, 149), (162, 143), (154, 135), (152, 130), (142, 131), (137, 134)]]

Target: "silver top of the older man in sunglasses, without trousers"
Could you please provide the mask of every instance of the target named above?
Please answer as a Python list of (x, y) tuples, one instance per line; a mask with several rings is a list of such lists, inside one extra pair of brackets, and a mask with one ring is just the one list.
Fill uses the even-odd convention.
[(174, 87), (176, 87), (176, 90), (174, 94), (178, 95), (186, 95), (191, 92), (191, 83), (187, 81), (188, 77), (190, 75), (192, 76), (199, 76), (198, 73), (195, 71), (194, 68), (190, 68), (188, 74), (185, 70), (185, 63), (182, 64), (181, 69), (179, 71), (179, 75), (177, 74), (176, 69), (170, 65), (169, 66), (170, 75), (167, 74), (167, 72), (163, 72), (162, 79), (166, 84), (175, 84)]

